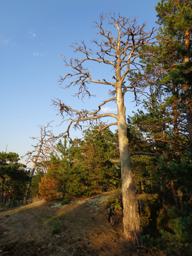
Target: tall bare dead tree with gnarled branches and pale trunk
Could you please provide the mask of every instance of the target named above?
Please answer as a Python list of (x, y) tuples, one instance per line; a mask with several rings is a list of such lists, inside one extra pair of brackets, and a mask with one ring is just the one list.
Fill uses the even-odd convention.
[[(60, 85), (70, 78), (71, 82), (65, 85), (64, 88), (70, 86), (78, 86), (78, 92), (75, 94), (78, 98), (82, 99), (84, 96), (91, 97), (88, 85), (102, 85), (111, 86), (112, 90), (109, 90), (109, 97), (102, 104), (98, 106), (97, 110), (75, 110), (65, 103), (62, 103), (60, 99), (52, 100), (53, 105), (58, 108), (58, 115), (63, 117), (63, 121), (70, 121), (67, 131), (60, 134), (57, 138), (62, 136), (70, 137), (70, 128), (84, 129), (86, 127), (94, 127), (97, 125), (98, 135), (102, 130), (110, 127), (111, 125), (118, 126), (119, 135), (119, 147), (120, 147), (120, 167), (121, 167), (121, 180), (122, 180), (122, 201), (123, 201), (123, 223), (124, 223), (124, 235), (128, 238), (132, 244), (140, 244), (140, 237), (142, 234), (142, 228), (140, 224), (140, 218), (137, 209), (135, 185), (133, 181), (131, 159), (129, 152), (129, 140), (127, 138), (127, 123), (126, 113), (124, 105), (124, 97), (126, 92), (132, 91), (135, 96), (138, 92), (138, 88), (134, 83), (125, 85), (127, 75), (140, 69), (138, 64), (138, 57), (141, 56), (143, 48), (146, 45), (152, 43), (154, 36), (154, 28), (150, 32), (145, 31), (145, 23), (142, 26), (137, 25), (136, 18), (130, 19), (121, 17), (115, 17), (111, 13), (99, 16), (100, 22), (95, 23), (95, 27), (99, 29), (97, 32), (103, 39), (99, 43), (97, 39), (92, 40), (92, 43), (98, 47), (98, 51), (94, 53), (91, 48), (85, 46), (84, 41), (81, 44), (75, 42), (72, 44), (74, 52), (80, 52), (84, 54), (84, 59), (72, 58), (68, 63), (63, 57), (65, 67), (72, 69), (72, 73), (68, 73), (65, 77), (60, 77)], [(108, 20), (108, 26), (112, 26), (112, 30), (104, 29), (104, 23)], [(113, 31), (117, 32), (117, 36), (114, 37)], [(87, 68), (84, 67), (87, 61), (93, 61), (96, 63), (103, 63), (110, 65), (114, 71), (114, 75), (111, 81), (106, 79), (96, 80)], [(99, 74), (98, 74), (99, 75)], [(114, 79), (114, 80), (113, 80)], [(117, 104), (118, 113), (104, 113), (101, 114), (101, 107), (108, 102), (115, 101)], [(68, 116), (65, 118), (64, 116)], [(112, 123), (102, 122), (103, 117), (112, 117), (116, 121)], [(62, 123), (61, 122), (61, 123)], [(94, 135), (93, 137), (95, 137)]]

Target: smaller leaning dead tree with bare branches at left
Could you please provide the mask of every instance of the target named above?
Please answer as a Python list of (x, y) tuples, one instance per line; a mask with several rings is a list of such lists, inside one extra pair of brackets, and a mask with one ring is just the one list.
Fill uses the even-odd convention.
[(26, 192), (25, 192), (24, 204), (26, 204), (26, 201), (28, 199), (29, 189), (30, 189), (30, 186), (32, 183), (32, 179), (33, 179), (36, 167), (45, 168), (48, 165), (48, 160), (49, 160), (48, 153), (49, 153), (49, 148), (50, 148), (50, 145), (48, 144), (49, 138), (51, 139), (51, 149), (53, 148), (52, 136), (51, 136), (52, 133), (50, 133), (50, 131), (48, 131), (48, 127), (51, 127), (49, 124), (50, 124), (50, 122), (48, 122), (47, 126), (43, 126), (43, 125), (38, 126), (40, 128), (40, 136), (39, 137), (30, 137), (33, 140), (37, 140), (38, 143), (36, 144), (36, 146), (32, 145), (34, 147), (34, 150), (27, 152), (27, 154), (24, 156), (24, 157), (27, 157), (27, 159), (26, 159), (27, 164), (30, 162), (33, 162), (33, 168), (30, 172), (30, 176), (29, 176), (30, 179), (27, 184), (27, 188), (26, 188)]

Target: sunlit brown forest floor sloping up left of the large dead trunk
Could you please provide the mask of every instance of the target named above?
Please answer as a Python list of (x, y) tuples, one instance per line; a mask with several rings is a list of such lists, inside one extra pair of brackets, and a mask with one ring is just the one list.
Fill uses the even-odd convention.
[[(122, 211), (108, 220), (110, 197), (120, 191), (59, 201), (38, 201), (24, 207), (0, 209), (0, 256), (162, 256), (132, 248), (123, 236)], [(61, 229), (51, 228), (60, 220)]]

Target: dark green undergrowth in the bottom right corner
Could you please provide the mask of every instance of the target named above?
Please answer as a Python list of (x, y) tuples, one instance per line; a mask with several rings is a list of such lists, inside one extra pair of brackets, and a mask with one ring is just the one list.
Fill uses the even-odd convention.
[(180, 256), (192, 255), (192, 204), (186, 203), (182, 209), (175, 206), (163, 209), (157, 217), (159, 238), (150, 234), (142, 237), (142, 244), (147, 247), (156, 247), (165, 252), (165, 255)]

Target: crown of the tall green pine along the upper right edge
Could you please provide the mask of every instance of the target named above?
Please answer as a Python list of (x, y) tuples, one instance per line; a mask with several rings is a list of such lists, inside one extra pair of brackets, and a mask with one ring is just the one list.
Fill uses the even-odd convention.
[(143, 71), (131, 73), (128, 80), (138, 92), (136, 103), (145, 110), (135, 113), (134, 122), (171, 159), (175, 156), (170, 152), (191, 146), (186, 110), (192, 100), (192, 1), (161, 0), (156, 11), (160, 41), (142, 49)]

